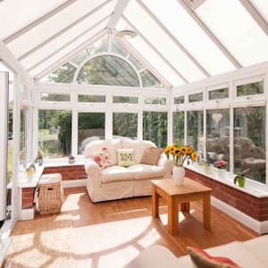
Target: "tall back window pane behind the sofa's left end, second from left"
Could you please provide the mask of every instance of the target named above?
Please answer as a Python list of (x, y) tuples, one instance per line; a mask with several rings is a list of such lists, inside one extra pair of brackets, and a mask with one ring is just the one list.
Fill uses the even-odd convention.
[(78, 153), (88, 142), (105, 138), (105, 113), (79, 113)]

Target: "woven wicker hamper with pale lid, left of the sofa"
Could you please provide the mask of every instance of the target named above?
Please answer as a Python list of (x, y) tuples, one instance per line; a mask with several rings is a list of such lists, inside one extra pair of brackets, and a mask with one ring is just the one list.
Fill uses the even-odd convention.
[(56, 214), (63, 205), (62, 175), (59, 173), (42, 175), (38, 183), (39, 214)]

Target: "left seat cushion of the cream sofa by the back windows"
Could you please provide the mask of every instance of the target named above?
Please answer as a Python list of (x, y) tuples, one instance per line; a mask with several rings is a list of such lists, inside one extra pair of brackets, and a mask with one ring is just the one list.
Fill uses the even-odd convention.
[(104, 183), (121, 180), (134, 180), (134, 172), (125, 167), (113, 165), (107, 167), (101, 172), (100, 179)]

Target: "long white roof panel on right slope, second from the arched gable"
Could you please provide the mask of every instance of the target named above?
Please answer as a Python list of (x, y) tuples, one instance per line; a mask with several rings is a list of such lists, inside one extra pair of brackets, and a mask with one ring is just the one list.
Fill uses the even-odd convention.
[[(135, 1), (130, 2), (124, 15), (155, 48), (180, 71), (188, 81), (201, 80), (205, 75), (192, 63), (186, 54), (163, 32)], [(138, 20), (137, 20), (138, 18)], [(150, 58), (148, 58), (150, 59)]]

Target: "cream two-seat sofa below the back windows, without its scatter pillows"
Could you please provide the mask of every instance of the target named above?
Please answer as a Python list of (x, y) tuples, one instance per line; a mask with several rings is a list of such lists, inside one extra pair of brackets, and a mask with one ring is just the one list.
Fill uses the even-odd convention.
[[(93, 161), (94, 153), (107, 147), (115, 165), (101, 170)], [(88, 174), (87, 189), (92, 202), (140, 197), (151, 195), (150, 180), (169, 178), (172, 175), (173, 163), (162, 154), (157, 165), (140, 164), (147, 147), (156, 147), (149, 140), (132, 140), (130, 138), (95, 140), (85, 147), (85, 170)], [(116, 150), (132, 148), (136, 164), (130, 167), (117, 165)]]

